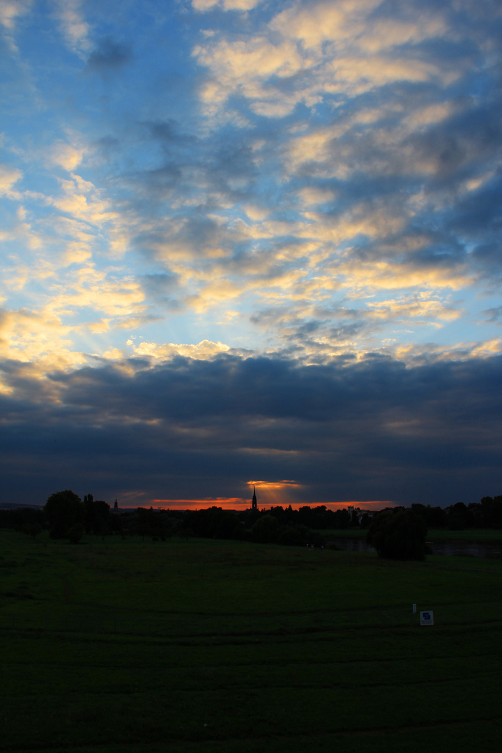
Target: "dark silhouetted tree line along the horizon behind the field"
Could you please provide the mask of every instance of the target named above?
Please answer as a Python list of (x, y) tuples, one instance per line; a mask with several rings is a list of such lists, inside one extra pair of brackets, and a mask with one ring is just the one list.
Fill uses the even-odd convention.
[(35, 537), (44, 529), (51, 538), (78, 543), (84, 533), (139, 535), (166, 541), (172, 536), (226, 538), (290, 546), (324, 547), (327, 529), (367, 529), (367, 542), (380, 556), (423, 559), (427, 529), (502, 529), (502, 495), (483, 497), (479, 503), (458, 502), (449, 508), (414, 504), (411, 508), (386, 508), (374, 514), (358, 514), (326, 505), (298, 510), (281, 505), (267, 510), (229, 511), (218, 507), (203, 510), (136, 508), (112, 512), (103, 500), (87, 494), (82, 500), (71, 489), (54, 492), (43, 510), (17, 508), (0, 511), (0, 527)]

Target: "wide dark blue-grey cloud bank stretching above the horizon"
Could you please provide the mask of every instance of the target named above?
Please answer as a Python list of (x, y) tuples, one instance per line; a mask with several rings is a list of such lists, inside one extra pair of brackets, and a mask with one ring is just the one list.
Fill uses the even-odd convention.
[(257, 477), (293, 478), (310, 504), (446, 505), (500, 492), (500, 357), (145, 365), (43, 382), (4, 364), (15, 396), (0, 398), (1, 501), (43, 502), (66, 486), (104, 498), (240, 496)]

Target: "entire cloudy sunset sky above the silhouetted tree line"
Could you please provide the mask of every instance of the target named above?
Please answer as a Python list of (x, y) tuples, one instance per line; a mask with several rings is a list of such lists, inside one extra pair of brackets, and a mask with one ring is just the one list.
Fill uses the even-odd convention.
[(0, 0), (0, 502), (502, 493), (498, 0)]

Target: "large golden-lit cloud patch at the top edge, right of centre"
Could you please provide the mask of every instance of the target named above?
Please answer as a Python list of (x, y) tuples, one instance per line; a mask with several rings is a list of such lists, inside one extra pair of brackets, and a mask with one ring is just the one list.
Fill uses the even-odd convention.
[[(221, 110), (234, 93), (249, 99), (257, 114), (284, 117), (298, 102), (315, 107), (324, 93), (361, 94), (393, 81), (455, 80), (455, 66), (440, 68), (395, 53), (405, 44), (443, 37), (446, 26), (440, 15), (427, 14), (413, 23), (369, 23), (367, 15), (379, 5), (381, 0), (294, 5), (272, 20), (268, 36), (232, 42), (209, 38), (193, 50), (211, 72), (202, 89), (208, 114)], [(308, 76), (294, 90), (273, 81), (299, 72)]]

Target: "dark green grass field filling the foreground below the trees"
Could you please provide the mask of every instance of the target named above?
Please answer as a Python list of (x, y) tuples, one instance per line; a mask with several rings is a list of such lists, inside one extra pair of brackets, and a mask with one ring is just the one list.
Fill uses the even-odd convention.
[(496, 560), (0, 543), (2, 751), (500, 749)]

